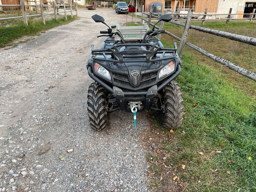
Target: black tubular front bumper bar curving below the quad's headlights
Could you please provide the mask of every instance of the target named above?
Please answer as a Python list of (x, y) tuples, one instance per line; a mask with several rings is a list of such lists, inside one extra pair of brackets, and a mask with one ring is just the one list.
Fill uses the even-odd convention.
[(160, 86), (157, 87), (157, 85), (154, 85), (150, 87), (147, 91), (134, 91), (134, 92), (123, 92), (122, 89), (118, 87), (111, 88), (106, 83), (101, 81), (99, 78), (95, 77), (92, 73), (91, 66), (88, 67), (88, 74), (89, 76), (96, 82), (98, 82), (102, 87), (104, 87), (106, 90), (108, 90), (110, 93), (113, 94), (116, 98), (124, 98), (125, 96), (141, 96), (145, 95), (146, 97), (155, 97), (158, 93), (158, 91), (162, 90), (167, 84), (169, 84), (173, 79), (178, 77), (178, 75), (181, 73), (181, 66), (177, 65), (176, 72), (166, 81), (164, 81)]

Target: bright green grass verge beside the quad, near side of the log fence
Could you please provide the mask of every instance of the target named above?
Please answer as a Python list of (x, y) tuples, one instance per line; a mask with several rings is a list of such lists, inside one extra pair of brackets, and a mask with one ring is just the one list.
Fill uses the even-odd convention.
[[(185, 118), (172, 135), (176, 139), (161, 142), (165, 164), (176, 170), (185, 191), (256, 191), (255, 97), (232, 87), (219, 71), (197, 64), (191, 54), (184, 54), (182, 63), (176, 80)], [(153, 121), (159, 123), (157, 117)]]

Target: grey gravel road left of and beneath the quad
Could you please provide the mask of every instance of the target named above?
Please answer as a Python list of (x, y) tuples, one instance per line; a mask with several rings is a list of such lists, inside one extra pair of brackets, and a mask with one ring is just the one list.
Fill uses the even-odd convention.
[(0, 191), (148, 191), (145, 113), (138, 136), (132, 113), (112, 113), (100, 133), (89, 126), (86, 61), (106, 29), (95, 13), (126, 22), (112, 9), (79, 10), (79, 20), (0, 49)]

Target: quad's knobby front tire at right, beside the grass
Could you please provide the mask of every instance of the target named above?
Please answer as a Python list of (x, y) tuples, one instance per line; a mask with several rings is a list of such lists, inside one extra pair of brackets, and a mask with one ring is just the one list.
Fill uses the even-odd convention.
[(182, 123), (183, 99), (179, 84), (172, 81), (164, 89), (165, 111), (160, 114), (163, 126), (168, 129), (176, 129)]

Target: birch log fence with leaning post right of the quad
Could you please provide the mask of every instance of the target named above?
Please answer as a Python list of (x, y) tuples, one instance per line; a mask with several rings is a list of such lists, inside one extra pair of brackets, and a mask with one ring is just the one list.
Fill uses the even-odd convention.
[[(163, 12), (163, 14), (164, 13), (165, 12)], [(204, 33), (209, 33), (209, 34), (217, 35), (219, 37), (224, 37), (224, 38), (231, 39), (231, 40), (234, 40), (234, 41), (239, 41), (239, 42), (242, 42), (242, 43), (247, 43), (247, 44), (253, 45), (253, 46), (256, 46), (256, 38), (246, 37), (246, 36), (243, 36), (243, 35), (228, 33), (228, 32), (225, 32), (225, 31), (219, 31), (219, 30), (209, 29), (209, 28), (205, 28), (205, 27), (199, 27), (199, 26), (190, 25), (190, 22), (192, 20), (192, 13), (193, 13), (193, 10), (189, 9), (188, 14), (187, 14), (186, 23), (181, 23), (181, 22), (177, 22), (177, 21), (169, 21), (170, 23), (173, 23), (174, 25), (179, 25), (179, 26), (185, 27), (184, 31), (183, 31), (182, 38), (179, 38), (179, 37), (175, 36), (174, 34), (166, 31), (166, 33), (168, 35), (170, 35), (171, 37), (177, 39), (178, 41), (181, 41), (179, 49), (178, 49), (179, 57), (182, 57), (182, 53), (183, 53), (184, 47), (185, 47), (185, 45), (188, 45), (189, 47), (195, 49), (196, 51), (198, 51), (199, 53), (205, 55), (206, 57), (211, 58), (213, 61), (221, 63), (222, 65), (228, 67), (229, 69), (234, 70), (237, 73), (239, 73), (239, 74), (241, 74), (241, 75), (243, 75), (243, 76), (245, 76), (245, 77), (247, 77), (247, 78), (249, 78), (249, 79), (251, 79), (251, 80), (256, 82), (256, 74), (255, 73), (253, 73), (251, 71), (248, 71), (246, 69), (243, 69), (242, 67), (240, 67), (240, 66), (238, 66), (238, 65), (236, 65), (234, 63), (231, 63), (231, 62), (229, 62), (229, 61), (227, 61), (227, 60), (225, 60), (223, 58), (220, 58), (220, 57), (218, 57), (218, 56), (216, 56), (214, 54), (211, 54), (211, 53), (201, 49), (200, 47), (197, 47), (196, 45), (193, 45), (190, 42), (187, 42), (187, 34), (188, 34), (188, 30), (189, 29), (194, 29), (194, 30), (197, 30), (197, 31), (201, 31), (201, 32), (204, 32)], [(148, 20), (143, 18), (144, 14), (149, 16)], [(159, 19), (160, 17), (153, 15), (152, 12), (150, 12), (150, 13), (145, 13), (144, 12), (142, 14), (142, 17), (141, 17), (141, 24), (143, 23), (143, 21), (146, 21), (149, 25), (153, 26), (154, 23), (151, 23), (150, 18), (157, 18), (157, 19)], [(158, 26), (155, 26), (155, 27), (157, 29), (163, 29), (163, 25), (161, 25), (161, 27), (158, 27)]]

